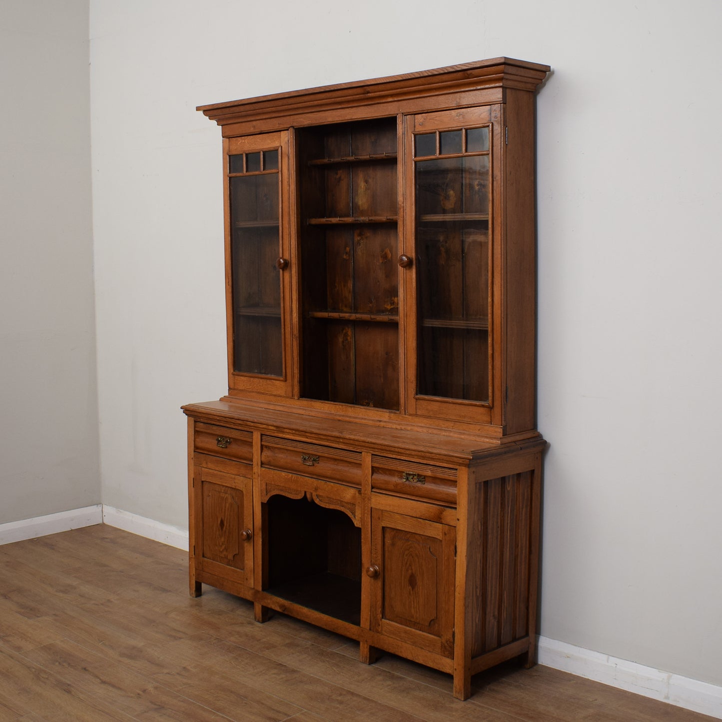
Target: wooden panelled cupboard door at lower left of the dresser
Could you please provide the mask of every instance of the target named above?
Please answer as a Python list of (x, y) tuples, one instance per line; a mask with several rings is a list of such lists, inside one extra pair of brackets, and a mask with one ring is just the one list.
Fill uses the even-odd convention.
[(196, 466), (193, 487), (196, 494), (196, 567), (253, 586), (251, 479)]

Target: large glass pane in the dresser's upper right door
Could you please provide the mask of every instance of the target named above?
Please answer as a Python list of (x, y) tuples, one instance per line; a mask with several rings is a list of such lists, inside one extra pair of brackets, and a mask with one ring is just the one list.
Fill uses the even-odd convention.
[(488, 401), (489, 159), (415, 165), (417, 393)]

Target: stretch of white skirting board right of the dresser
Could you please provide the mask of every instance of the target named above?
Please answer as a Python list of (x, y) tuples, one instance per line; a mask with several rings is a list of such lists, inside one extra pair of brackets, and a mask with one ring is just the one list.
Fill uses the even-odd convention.
[(539, 664), (722, 719), (722, 687), (539, 637)]

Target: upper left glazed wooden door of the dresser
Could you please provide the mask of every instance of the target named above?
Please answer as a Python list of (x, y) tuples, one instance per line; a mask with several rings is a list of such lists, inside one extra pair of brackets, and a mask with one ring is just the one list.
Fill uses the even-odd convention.
[(224, 143), (228, 386), (290, 396), (287, 131)]

